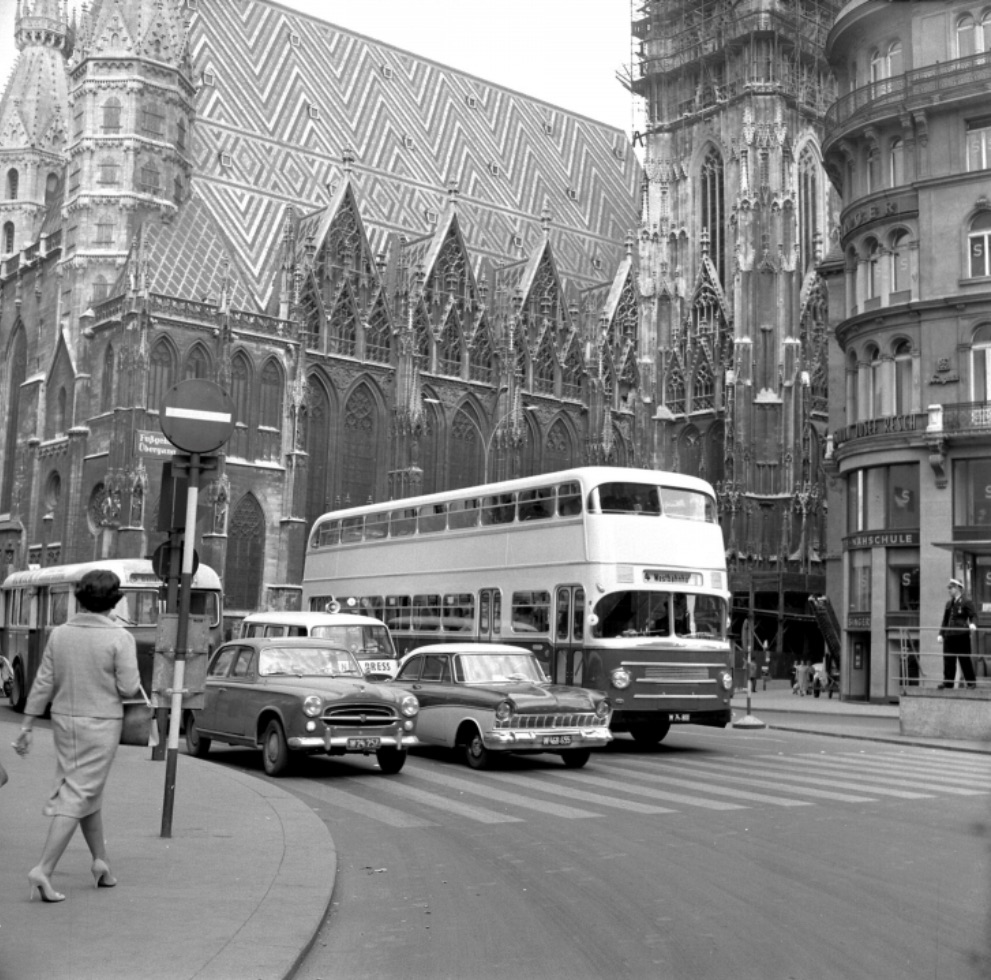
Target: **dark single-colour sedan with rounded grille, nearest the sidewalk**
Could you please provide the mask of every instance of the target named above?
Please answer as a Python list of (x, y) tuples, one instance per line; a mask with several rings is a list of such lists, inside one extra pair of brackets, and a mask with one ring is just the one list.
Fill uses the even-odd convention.
[(295, 752), (374, 752), (392, 774), (416, 744), (419, 710), (414, 695), (367, 680), (352, 653), (326, 640), (239, 639), (210, 659), (204, 707), (184, 716), (186, 748), (202, 758), (212, 742), (257, 747), (270, 776)]

